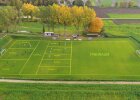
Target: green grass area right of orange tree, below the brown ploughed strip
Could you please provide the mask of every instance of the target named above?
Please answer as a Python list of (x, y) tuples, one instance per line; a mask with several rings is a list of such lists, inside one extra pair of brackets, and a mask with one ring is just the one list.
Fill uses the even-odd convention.
[(104, 20), (105, 33), (117, 36), (133, 36), (140, 40), (140, 24), (117, 25), (112, 20)]

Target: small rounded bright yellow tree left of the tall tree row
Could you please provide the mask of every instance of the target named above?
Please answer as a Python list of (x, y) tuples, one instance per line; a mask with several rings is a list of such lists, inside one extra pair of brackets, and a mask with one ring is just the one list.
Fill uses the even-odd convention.
[(23, 14), (25, 16), (27, 16), (29, 18), (29, 16), (31, 18), (33, 18), (33, 16), (35, 14), (37, 14), (37, 12), (39, 11), (38, 7), (37, 6), (34, 6), (30, 3), (24, 3), (23, 6), (22, 6), (22, 11), (23, 11)]

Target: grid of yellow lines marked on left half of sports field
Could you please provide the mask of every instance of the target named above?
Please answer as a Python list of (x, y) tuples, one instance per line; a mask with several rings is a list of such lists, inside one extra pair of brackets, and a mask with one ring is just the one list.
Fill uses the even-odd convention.
[[(28, 40), (20, 40), (21, 42), (22, 41), (28, 41)], [(41, 59), (41, 61), (40, 61), (40, 64), (39, 64), (39, 66), (38, 66), (38, 68), (37, 68), (37, 71), (36, 71), (36, 74), (22, 74), (22, 71), (24, 70), (24, 68), (26, 67), (25, 65), (28, 63), (28, 61), (29, 61), (29, 59), (32, 57), (32, 54), (34, 53), (34, 51), (37, 49), (37, 47), (38, 47), (38, 45), (39, 45), (39, 43), (40, 43), (40, 41), (41, 40), (38, 40), (37, 42), (37, 44), (36, 44), (36, 46), (34, 47), (34, 48), (12, 48), (12, 46), (13, 45), (15, 45), (17, 42), (20, 42), (20, 41), (18, 41), (18, 40), (16, 40), (16, 41), (14, 41), (13, 42), (13, 44), (8, 48), (8, 50), (11, 50), (11, 49), (17, 49), (17, 50), (22, 50), (22, 49), (31, 49), (31, 50), (33, 50), (32, 52), (31, 52), (31, 54), (30, 54), (30, 56), (27, 58), (27, 59), (1, 59), (1, 60), (17, 60), (17, 61), (22, 61), (22, 60), (26, 60), (26, 62), (23, 64), (23, 66), (22, 66), (22, 68), (20, 69), (20, 71), (19, 71), (19, 74), (12, 74), (12, 75), (68, 75), (68, 74), (38, 74), (38, 72), (39, 72), (39, 68), (41, 68), (41, 67), (49, 67), (49, 66), (41, 66), (41, 63), (42, 63), (42, 61), (43, 60), (70, 60), (70, 66), (54, 66), (55, 68), (57, 68), (57, 67), (69, 67), (70, 68), (70, 71), (69, 71), (69, 74), (71, 75), (71, 60), (72, 60), (72, 42), (70, 43), (70, 47), (69, 46), (50, 46), (49, 45), (49, 42), (48, 42), (48, 45), (46, 46), (46, 50), (49, 48), (49, 47), (60, 47), (60, 48), (63, 48), (63, 47), (66, 47), (66, 48), (70, 48), (71, 49), (71, 51), (70, 51), (70, 54), (64, 54), (64, 55), (70, 55), (70, 59), (44, 59), (44, 56), (45, 56), (45, 54), (46, 54), (46, 50), (45, 50), (45, 52), (44, 52), (44, 54), (43, 54), (43, 56), (42, 56), (42, 59)], [(29, 40), (29, 41), (36, 41), (36, 40)], [(57, 41), (58, 42), (58, 41)], [(65, 41), (59, 41), (59, 42), (65, 42)], [(55, 54), (55, 53), (51, 53), (51, 54)], [(61, 53), (58, 53), (58, 54), (60, 54), (61, 55)], [(52, 66), (53, 67), (53, 66)]]

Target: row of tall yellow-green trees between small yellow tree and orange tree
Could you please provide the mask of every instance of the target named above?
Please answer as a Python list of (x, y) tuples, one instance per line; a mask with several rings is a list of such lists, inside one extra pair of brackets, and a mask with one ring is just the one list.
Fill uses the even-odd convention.
[(84, 7), (68, 7), (65, 5), (52, 5), (42, 6), (40, 9), (41, 21), (48, 25), (48, 30), (55, 29), (55, 25), (61, 24), (64, 26), (64, 31), (68, 25), (75, 26), (79, 31), (80, 27), (87, 28), (92, 19), (96, 17), (96, 13), (93, 9)]

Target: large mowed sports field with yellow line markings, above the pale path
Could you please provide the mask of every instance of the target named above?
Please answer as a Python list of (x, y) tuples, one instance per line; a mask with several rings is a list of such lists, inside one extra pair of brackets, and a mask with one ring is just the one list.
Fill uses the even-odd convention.
[(13, 40), (0, 56), (0, 77), (139, 80), (140, 48), (130, 39)]

